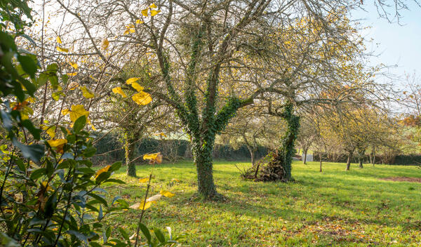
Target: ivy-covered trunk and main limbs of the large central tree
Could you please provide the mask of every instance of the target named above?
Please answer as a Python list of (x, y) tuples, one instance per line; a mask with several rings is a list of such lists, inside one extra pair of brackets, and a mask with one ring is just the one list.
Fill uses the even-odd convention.
[[(171, 3), (171, 1), (170, 1)], [(240, 100), (238, 97), (232, 96), (229, 98), (222, 108), (217, 111), (218, 102), (218, 84), (219, 74), (222, 66), (222, 58), (227, 52), (231, 36), (227, 36), (222, 41), (220, 48), (220, 55), (215, 56), (213, 61), (213, 68), (210, 69), (208, 78), (206, 79), (206, 91), (203, 95), (203, 104), (201, 104), (201, 114), (199, 114), (199, 107), (197, 104), (198, 98), (196, 96), (197, 88), (196, 79), (196, 65), (201, 59), (201, 50), (203, 47), (202, 37), (205, 26), (199, 27), (197, 36), (192, 36), (192, 44), (190, 50), (189, 65), (187, 67), (187, 74), (185, 78), (185, 88), (183, 90), (183, 97), (175, 91), (170, 74), (170, 62), (167, 60), (165, 53), (158, 49), (156, 51), (159, 58), (159, 66), (163, 79), (166, 83), (168, 95), (163, 97), (176, 110), (182, 125), (187, 133), (190, 135), (192, 143), (192, 154), (194, 162), (196, 163), (197, 171), (197, 186), (198, 192), (206, 199), (215, 198), (216, 192), (215, 183), (213, 182), (213, 147), (215, 144), (215, 135), (220, 133), (228, 124), (229, 119), (234, 116), (237, 109), (244, 105), (253, 103), (253, 98)], [(162, 47), (156, 44), (156, 47)]]

